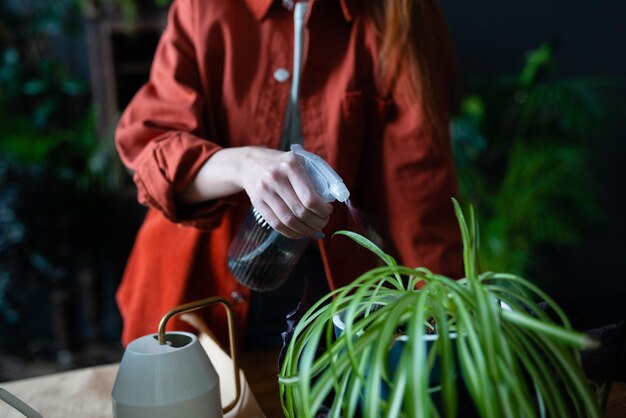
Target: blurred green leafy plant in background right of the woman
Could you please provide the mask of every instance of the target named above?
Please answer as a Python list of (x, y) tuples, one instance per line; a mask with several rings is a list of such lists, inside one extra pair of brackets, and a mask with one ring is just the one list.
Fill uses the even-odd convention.
[(452, 123), (483, 270), (527, 273), (541, 246), (574, 245), (599, 219), (591, 167), (606, 109), (594, 80), (559, 77), (554, 52), (546, 43), (519, 74), (471, 85)]

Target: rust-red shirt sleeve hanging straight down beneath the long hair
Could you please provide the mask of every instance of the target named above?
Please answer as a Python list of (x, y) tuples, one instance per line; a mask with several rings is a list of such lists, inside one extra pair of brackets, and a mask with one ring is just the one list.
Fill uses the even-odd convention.
[[(450, 138), (435, 136), (422, 106), (396, 89), (379, 103), (380, 142), (374, 153), (369, 207), (375, 225), (403, 264), (462, 276), (459, 227), (452, 197), (456, 174)], [(443, 130), (447, 132), (446, 129)]]

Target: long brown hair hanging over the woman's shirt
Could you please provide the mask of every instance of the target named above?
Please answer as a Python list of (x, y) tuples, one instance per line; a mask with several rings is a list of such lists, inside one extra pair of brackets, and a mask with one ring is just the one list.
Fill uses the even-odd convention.
[[(369, 15), (380, 36), (379, 83), (396, 87), (423, 105), (437, 138), (446, 138), (456, 106), (458, 73), (452, 40), (437, 0), (370, 0)], [(407, 86), (398, 86), (397, 83)], [(446, 131), (444, 131), (446, 130)]]

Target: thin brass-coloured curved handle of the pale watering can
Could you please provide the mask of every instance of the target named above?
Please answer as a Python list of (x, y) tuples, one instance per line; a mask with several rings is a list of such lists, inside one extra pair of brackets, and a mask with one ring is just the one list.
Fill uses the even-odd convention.
[(241, 382), (239, 378), (239, 365), (237, 360), (237, 336), (235, 332), (235, 314), (233, 312), (233, 308), (230, 303), (223, 298), (212, 297), (201, 299), (195, 302), (190, 302), (185, 305), (178, 306), (169, 312), (167, 312), (163, 318), (161, 318), (161, 322), (159, 323), (159, 344), (165, 344), (165, 326), (167, 325), (167, 321), (169, 321), (173, 316), (180, 315), (182, 313), (192, 312), (201, 308), (205, 308), (210, 305), (220, 304), (226, 309), (226, 313), (228, 315), (228, 336), (230, 340), (230, 355), (233, 358), (233, 372), (235, 374), (235, 399), (222, 408), (223, 413), (227, 413), (232, 410), (237, 402), (239, 402), (239, 398), (241, 396)]

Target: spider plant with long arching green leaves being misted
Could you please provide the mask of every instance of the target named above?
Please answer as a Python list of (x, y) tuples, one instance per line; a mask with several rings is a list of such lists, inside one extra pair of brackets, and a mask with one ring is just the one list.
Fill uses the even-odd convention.
[[(301, 319), (279, 375), (287, 417), (319, 416), (324, 407), (330, 417), (466, 416), (461, 390), (482, 417), (601, 416), (579, 359), (596, 343), (528, 280), (480, 273), (473, 209), (468, 224), (453, 203), (464, 243), (461, 280), (398, 265), (366, 238), (337, 233), (386, 265), (330, 292)], [(339, 314), (344, 328), (336, 337)]]

